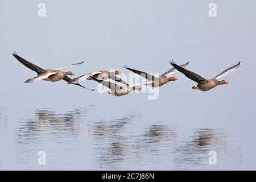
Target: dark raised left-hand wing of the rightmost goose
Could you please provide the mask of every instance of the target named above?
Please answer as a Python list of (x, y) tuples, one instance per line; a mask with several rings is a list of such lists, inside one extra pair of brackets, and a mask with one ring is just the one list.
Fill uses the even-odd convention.
[(195, 72), (192, 72), (186, 68), (180, 67), (179, 65), (177, 65), (176, 63), (174, 63), (174, 60), (170, 61), (170, 64), (177, 69), (177, 71), (183, 73), (186, 77), (190, 78), (191, 80), (200, 83), (201, 81), (207, 81), (207, 79), (205, 79), (204, 77), (198, 75)]

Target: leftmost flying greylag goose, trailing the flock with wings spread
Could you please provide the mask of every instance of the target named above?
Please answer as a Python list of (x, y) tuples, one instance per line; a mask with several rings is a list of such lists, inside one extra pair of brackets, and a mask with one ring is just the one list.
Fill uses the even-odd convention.
[[(84, 63), (84, 61), (82, 61), (81, 63), (71, 64), (71, 65), (68, 65), (67, 67), (62, 67), (62, 68), (58, 68), (58, 69), (43, 69), (43, 68), (39, 67), (38, 65), (35, 65), (35, 64), (31, 63), (30, 61), (23, 59), (16, 52), (13, 52), (13, 56), (24, 66), (26, 66), (27, 68), (30, 68), (32, 71), (35, 71), (36, 73), (38, 73), (38, 76), (26, 80), (25, 81), (26, 83), (34, 83), (34, 82), (38, 82), (38, 81), (42, 81), (42, 80), (51, 81), (51, 82), (65, 80), (65, 81), (69, 82), (72, 80), (72, 78), (69, 77), (68, 75), (75, 75), (75, 73), (73, 73), (71, 71), (61, 72), (60, 69), (75, 67), (77, 65), (81, 65), (82, 63)], [(75, 84), (75, 85), (79, 85), (83, 88), (86, 88), (85, 86), (83, 86), (81, 84)], [(88, 89), (88, 88), (86, 88), (86, 89)], [(89, 89), (89, 90), (94, 90), (94, 89)]]

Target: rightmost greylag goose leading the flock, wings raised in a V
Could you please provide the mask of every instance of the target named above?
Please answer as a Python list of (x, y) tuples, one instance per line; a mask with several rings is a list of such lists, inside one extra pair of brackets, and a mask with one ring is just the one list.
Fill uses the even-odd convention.
[(216, 77), (212, 78), (212, 79), (206, 79), (200, 75), (198, 75), (195, 72), (192, 72), (188, 69), (185, 69), (183, 67), (180, 67), (179, 65), (175, 64), (174, 61), (170, 61), (170, 64), (177, 69), (177, 71), (183, 73), (186, 77), (190, 78), (191, 80), (197, 82), (197, 86), (192, 86), (192, 89), (199, 89), (201, 91), (207, 91), (210, 90), (212, 88), (214, 88), (217, 85), (223, 85), (223, 84), (228, 84), (229, 82), (226, 80), (221, 80), (221, 81), (217, 81), (218, 79), (220, 79), (221, 77), (224, 77), (226, 75), (228, 75), (229, 73), (235, 71), (237, 68), (240, 67), (240, 62), (228, 69), (226, 69), (225, 71), (221, 72), (220, 74), (218, 74)]

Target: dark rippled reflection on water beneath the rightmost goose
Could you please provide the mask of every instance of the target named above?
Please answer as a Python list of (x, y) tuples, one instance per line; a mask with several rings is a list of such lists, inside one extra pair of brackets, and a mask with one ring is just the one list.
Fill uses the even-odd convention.
[[(210, 167), (208, 162), (210, 151), (217, 152), (218, 159), (220, 159), (218, 160), (219, 163), (237, 163), (237, 161), (241, 160), (241, 146), (239, 144), (233, 146), (232, 142), (228, 133), (221, 130), (195, 129), (191, 137), (181, 142), (181, 146), (175, 150), (175, 168)], [(234, 153), (238, 155), (232, 159), (237, 161), (228, 161), (227, 159), (230, 158), (222, 159), (223, 156), (232, 156)], [(241, 164), (241, 162), (238, 163)]]

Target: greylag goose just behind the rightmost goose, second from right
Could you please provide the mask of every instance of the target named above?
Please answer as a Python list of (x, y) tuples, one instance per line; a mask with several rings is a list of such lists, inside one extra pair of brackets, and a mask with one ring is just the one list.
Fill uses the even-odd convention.
[[(188, 64), (189, 64), (189, 62), (181, 65), (181, 67), (186, 67)], [(161, 75), (159, 77), (155, 77), (154, 75), (152, 75), (151, 73), (148, 73), (148, 72), (139, 71), (137, 69), (131, 69), (131, 68), (127, 67), (126, 65), (123, 68), (126, 68), (134, 73), (137, 73), (139, 76), (146, 78), (148, 80), (148, 82), (145, 85), (152, 86), (152, 87), (162, 86), (164, 84), (167, 84), (167, 82), (169, 82), (169, 81), (177, 80), (177, 77), (170, 77), (172, 74), (177, 72), (177, 70), (175, 68), (170, 69), (169, 71), (163, 73), (163, 75)]]

